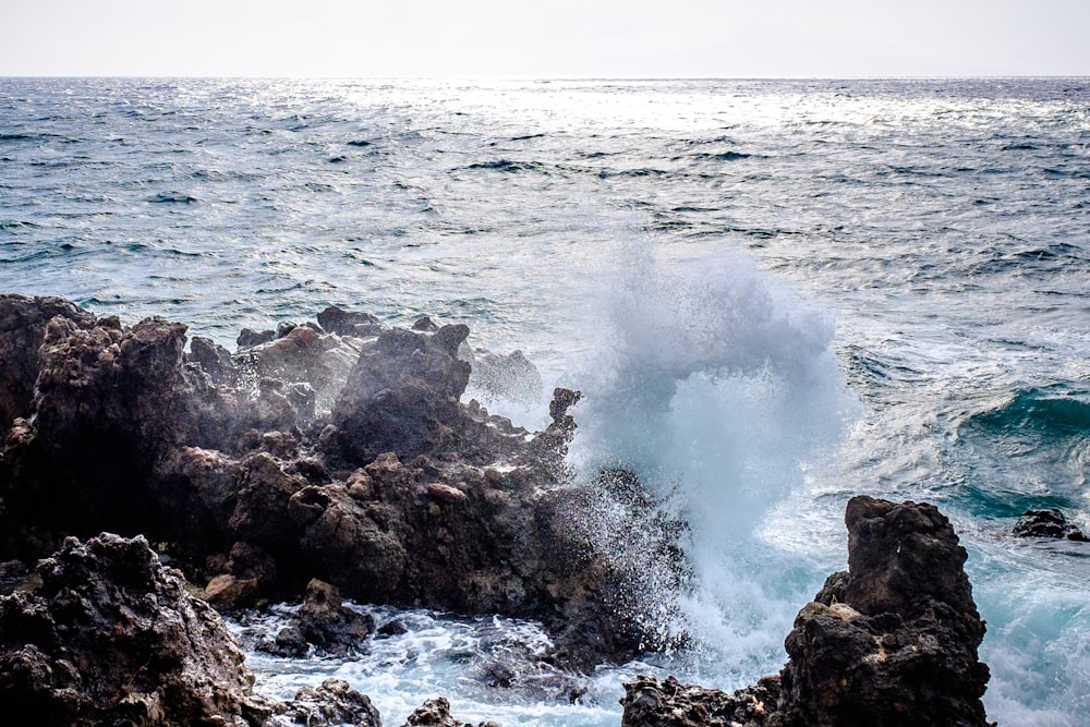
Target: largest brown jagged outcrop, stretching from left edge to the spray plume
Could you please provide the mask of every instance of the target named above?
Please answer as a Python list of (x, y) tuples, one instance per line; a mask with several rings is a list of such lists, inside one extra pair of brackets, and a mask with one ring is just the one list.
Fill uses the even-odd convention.
[(656, 645), (633, 617), (637, 571), (679, 553), (647, 541), (633, 567), (595, 545), (579, 523), (616, 502), (570, 482), (579, 393), (558, 389), (536, 434), (463, 403), (465, 326), (338, 308), (234, 353), (206, 339), (186, 352), (185, 326), (161, 318), (126, 327), (17, 296), (0, 311), (15, 392), (0, 561), (110, 530), (144, 534), (219, 608), (319, 579), (365, 602), (542, 620), (582, 668)]

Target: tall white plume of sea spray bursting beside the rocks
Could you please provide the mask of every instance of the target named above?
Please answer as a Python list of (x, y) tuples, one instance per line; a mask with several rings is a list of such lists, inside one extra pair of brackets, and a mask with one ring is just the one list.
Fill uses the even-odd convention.
[(584, 477), (630, 468), (688, 523), (691, 587), (658, 611), (695, 647), (689, 669), (715, 663), (714, 679), (744, 681), (778, 668), (819, 579), (758, 525), (804, 484), (803, 463), (837, 446), (857, 403), (828, 317), (746, 258), (630, 259), (596, 318), (601, 350), (581, 387), (572, 461)]

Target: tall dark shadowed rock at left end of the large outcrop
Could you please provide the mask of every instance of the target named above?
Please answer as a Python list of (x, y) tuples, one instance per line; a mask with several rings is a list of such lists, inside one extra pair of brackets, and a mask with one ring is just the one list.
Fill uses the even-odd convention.
[(221, 440), (232, 419), (230, 402), (184, 366), (184, 326), (80, 325), (47, 324), (33, 424), (13, 427), (0, 455), (0, 549), (15, 555), (40, 557), (64, 534), (169, 530), (148, 494), (155, 465), (180, 445)]

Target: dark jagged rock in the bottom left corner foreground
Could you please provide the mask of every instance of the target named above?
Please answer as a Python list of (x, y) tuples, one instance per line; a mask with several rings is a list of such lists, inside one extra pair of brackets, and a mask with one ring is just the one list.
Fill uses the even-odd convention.
[(269, 714), (219, 616), (143, 537), (69, 538), (38, 572), (37, 591), (0, 599), (0, 713), (80, 727)]

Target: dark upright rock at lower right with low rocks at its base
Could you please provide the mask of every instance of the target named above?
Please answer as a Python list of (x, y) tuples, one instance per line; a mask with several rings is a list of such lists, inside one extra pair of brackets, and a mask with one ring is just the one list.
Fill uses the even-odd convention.
[(734, 695), (643, 678), (626, 686), (623, 724), (988, 725), (984, 623), (949, 521), (861, 496), (845, 522), (848, 570), (799, 613), (777, 677)]

